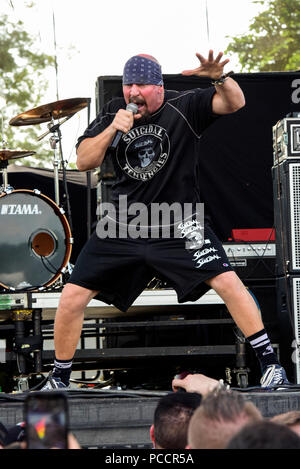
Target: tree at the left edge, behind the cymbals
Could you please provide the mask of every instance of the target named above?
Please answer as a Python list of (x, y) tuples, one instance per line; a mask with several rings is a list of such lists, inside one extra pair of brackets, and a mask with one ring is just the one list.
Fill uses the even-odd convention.
[(41, 104), (48, 86), (46, 71), (53, 64), (54, 58), (37, 49), (35, 38), (25, 31), (22, 21), (12, 23), (7, 15), (0, 16), (0, 96), (5, 99), (5, 106), (1, 106), (1, 140), (10, 150), (37, 152), (36, 158), (18, 160), (25, 165), (43, 166), (52, 152), (46, 148), (47, 142), (37, 141), (40, 125), (13, 127), (9, 120)]

